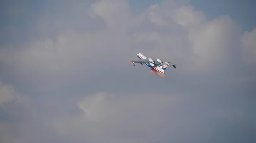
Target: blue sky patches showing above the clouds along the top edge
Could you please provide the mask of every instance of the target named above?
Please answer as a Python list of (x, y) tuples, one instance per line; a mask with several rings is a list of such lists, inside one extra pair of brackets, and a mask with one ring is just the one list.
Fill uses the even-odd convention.
[[(15, 2), (15, 4), (13, 2)], [(10, 17), (10, 14), (6, 13), (6, 11), (0, 14), (0, 18), (2, 19), (0, 27), (14, 26), (22, 33), (23, 36), (21, 39), (17, 39), (18, 42), (25, 42), (35, 36), (34, 34), (36, 34), (37, 31), (32, 31), (30, 27), (33, 26), (33, 22), (38, 16), (46, 12), (46, 8), (54, 11), (54, 8), (51, 8), (54, 7), (54, 5), (50, 5), (47, 1), (29, 1), (29, 3), (26, 3), (22, 1), (16, 2), (14, 0), (4, 3), (5, 4), (1, 6), (2, 11), (5, 11), (6, 8), (10, 6), (23, 5), (24, 8), (26, 8), (18, 17)], [(129, 0), (131, 9), (133, 13), (136, 14), (156, 3), (162, 3), (162, 0)], [(189, 4), (194, 6), (196, 10), (204, 11), (208, 20), (215, 19), (223, 14), (228, 14), (232, 20), (241, 25), (241, 32), (252, 31), (253, 28), (255, 28), (256, 1), (254, 0), (190, 0)], [(33, 36), (31, 36), (31, 34), (33, 34)], [(8, 42), (8, 37), (11, 36), (17, 37), (19, 35), (10, 35), (7, 33), (6, 36), (1, 37), (0, 43), (4, 44)]]

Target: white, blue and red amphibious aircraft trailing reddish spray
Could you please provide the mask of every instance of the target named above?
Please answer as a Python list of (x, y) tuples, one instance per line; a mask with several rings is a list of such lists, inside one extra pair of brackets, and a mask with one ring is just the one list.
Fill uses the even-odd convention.
[[(171, 65), (176, 69), (177, 65), (182, 65), (182, 64), (174, 64), (172, 62), (163, 62), (160, 59), (157, 59), (157, 62), (155, 62), (153, 59), (148, 58), (145, 56), (143, 53), (137, 53), (137, 57), (140, 59), (138, 61), (130, 61), (134, 66), (135, 63), (140, 63), (140, 64), (146, 64), (148, 67), (150, 67), (150, 73), (156, 75), (156, 76), (163, 76), (166, 69)], [(160, 74), (159, 74), (160, 73)]]

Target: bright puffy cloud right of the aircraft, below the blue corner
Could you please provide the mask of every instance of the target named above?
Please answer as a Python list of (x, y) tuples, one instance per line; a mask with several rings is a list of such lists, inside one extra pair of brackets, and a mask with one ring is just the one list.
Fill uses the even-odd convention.
[(228, 58), (233, 58), (234, 47), (240, 38), (240, 27), (230, 17), (222, 16), (218, 19), (202, 24), (199, 28), (189, 32), (192, 51), (199, 56), (195, 64), (200, 70), (225, 67), (229, 64)]

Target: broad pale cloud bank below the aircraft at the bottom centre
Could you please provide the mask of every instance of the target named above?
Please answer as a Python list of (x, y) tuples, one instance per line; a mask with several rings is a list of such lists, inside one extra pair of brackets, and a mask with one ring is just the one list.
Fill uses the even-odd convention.
[(154, 137), (159, 132), (157, 126), (168, 121), (165, 114), (181, 99), (181, 96), (162, 94), (118, 96), (96, 93), (78, 102), (84, 114), (57, 119), (54, 126), (60, 135), (74, 134), (83, 137), (83, 141), (92, 138), (102, 143), (105, 140), (136, 142), (147, 136)]

